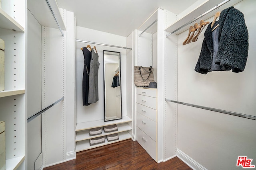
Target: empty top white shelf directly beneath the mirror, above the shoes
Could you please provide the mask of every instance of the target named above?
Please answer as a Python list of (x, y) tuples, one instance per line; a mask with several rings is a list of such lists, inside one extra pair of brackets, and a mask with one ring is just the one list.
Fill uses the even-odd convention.
[(76, 124), (76, 132), (78, 131), (84, 131), (86, 129), (91, 129), (95, 127), (103, 127), (107, 125), (114, 125), (114, 124), (120, 124), (120, 123), (126, 123), (130, 122), (132, 119), (130, 119), (128, 116), (124, 116), (122, 119), (114, 120), (114, 121), (106, 121), (104, 120), (96, 120), (96, 121), (90, 121), (90, 122), (82, 122)]

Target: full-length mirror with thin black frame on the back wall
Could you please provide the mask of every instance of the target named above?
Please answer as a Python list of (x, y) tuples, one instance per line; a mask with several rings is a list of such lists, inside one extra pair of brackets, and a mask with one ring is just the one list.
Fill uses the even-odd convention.
[(120, 52), (103, 50), (105, 121), (122, 119)]

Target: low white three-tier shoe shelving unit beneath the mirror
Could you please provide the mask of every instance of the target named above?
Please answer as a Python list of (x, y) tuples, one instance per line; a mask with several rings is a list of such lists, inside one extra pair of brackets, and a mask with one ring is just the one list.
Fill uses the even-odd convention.
[[(76, 124), (76, 152), (80, 152), (82, 150), (88, 150), (104, 145), (108, 145), (111, 143), (116, 143), (118, 141), (123, 141), (126, 139), (131, 139), (131, 135), (128, 133), (128, 131), (132, 130), (132, 127), (128, 125), (128, 122), (131, 122), (132, 119), (130, 119), (128, 116), (124, 116), (123, 119), (114, 120), (114, 121), (106, 121), (104, 120), (97, 120), (97, 121), (90, 121), (90, 122), (83, 122), (83, 123), (77, 123)], [(114, 125), (116, 124), (118, 127), (118, 131), (105, 133), (102, 129), (102, 134), (90, 136), (89, 135), (89, 129), (95, 128), (95, 127), (104, 127), (107, 125)], [(101, 137), (106, 136), (110, 134), (118, 133), (119, 139), (116, 141), (108, 142), (108, 140), (105, 138), (105, 143), (100, 143), (98, 145), (92, 145), (90, 146), (89, 140), (95, 137)]]

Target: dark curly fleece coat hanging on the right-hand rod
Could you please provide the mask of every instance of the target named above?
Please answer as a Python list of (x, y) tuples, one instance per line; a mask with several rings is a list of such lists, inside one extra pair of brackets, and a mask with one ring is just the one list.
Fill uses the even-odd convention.
[(215, 61), (211, 23), (204, 33), (201, 53), (195, 71), (206, 74), (211, 71), (212, 62), (226, 66), (232, 72), (242, 72), (248, 56), (248, 30), (244, 14), (233, 6), (223, 10), (219, 18), (219, 46)]

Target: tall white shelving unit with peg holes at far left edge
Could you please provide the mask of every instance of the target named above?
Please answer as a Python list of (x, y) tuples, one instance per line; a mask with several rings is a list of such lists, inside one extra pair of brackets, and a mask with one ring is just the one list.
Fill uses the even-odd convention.
[(26, 0), (2, 0), (0, 38), (5, 42), (5, 90), (0, 92), (0, 120), (6, 125), (6, 170), (25, 169), (25, 20)]

